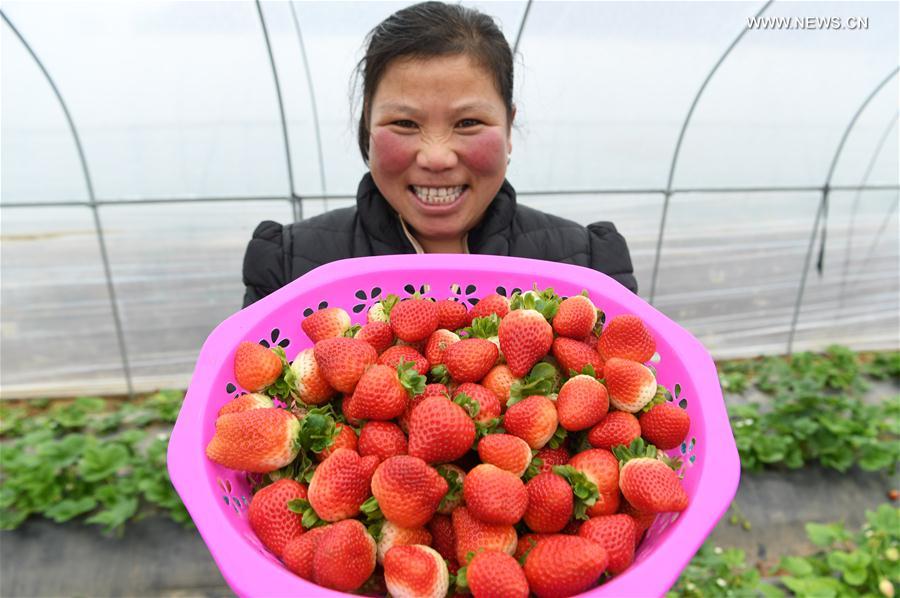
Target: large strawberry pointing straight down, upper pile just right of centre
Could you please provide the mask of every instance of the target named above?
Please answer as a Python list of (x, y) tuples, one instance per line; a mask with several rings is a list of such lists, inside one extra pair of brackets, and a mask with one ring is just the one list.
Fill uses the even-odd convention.
[(500, 350), (517, 378), (531, 371), (553, 345), (553, 327), (540, 312), (517, 309), (500, 321)]

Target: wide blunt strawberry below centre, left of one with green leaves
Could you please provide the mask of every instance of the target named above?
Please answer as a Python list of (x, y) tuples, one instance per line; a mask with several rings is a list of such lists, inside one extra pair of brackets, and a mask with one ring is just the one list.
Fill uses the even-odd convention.
[(463, 499), (469, 514), (482, 523), (514, 525), (528, 507), (528, 491), (522, 480), (489, 463), (466, 474)]

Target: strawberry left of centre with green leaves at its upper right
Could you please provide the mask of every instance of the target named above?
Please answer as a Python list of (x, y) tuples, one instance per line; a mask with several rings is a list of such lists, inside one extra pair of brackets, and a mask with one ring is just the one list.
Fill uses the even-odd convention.
[(396, 368), (373, 365), (356, 385), (350, 401), (351, 411), (360, 419), (387, 421), (406, 411), (412, 395), (425, 390), (425, 377), (407, 362)]

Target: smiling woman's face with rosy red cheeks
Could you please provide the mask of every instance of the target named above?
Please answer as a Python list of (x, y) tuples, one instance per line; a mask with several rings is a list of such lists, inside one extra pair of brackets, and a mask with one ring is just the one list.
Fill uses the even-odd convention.
[(426, 250), (481, 219), (506, 176), (510, 125), (490, 75), (467, 56), (388, 66), (372, 98), (369, 169)]

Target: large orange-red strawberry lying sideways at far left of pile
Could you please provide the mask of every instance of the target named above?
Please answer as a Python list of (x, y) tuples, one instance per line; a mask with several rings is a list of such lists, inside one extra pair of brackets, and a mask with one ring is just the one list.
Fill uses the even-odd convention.
[(294, 460), (299, 434), (300, 422), (285, 409), (228, 413), (216, 420), (206, 456), (229, 469), (269, 473)]

